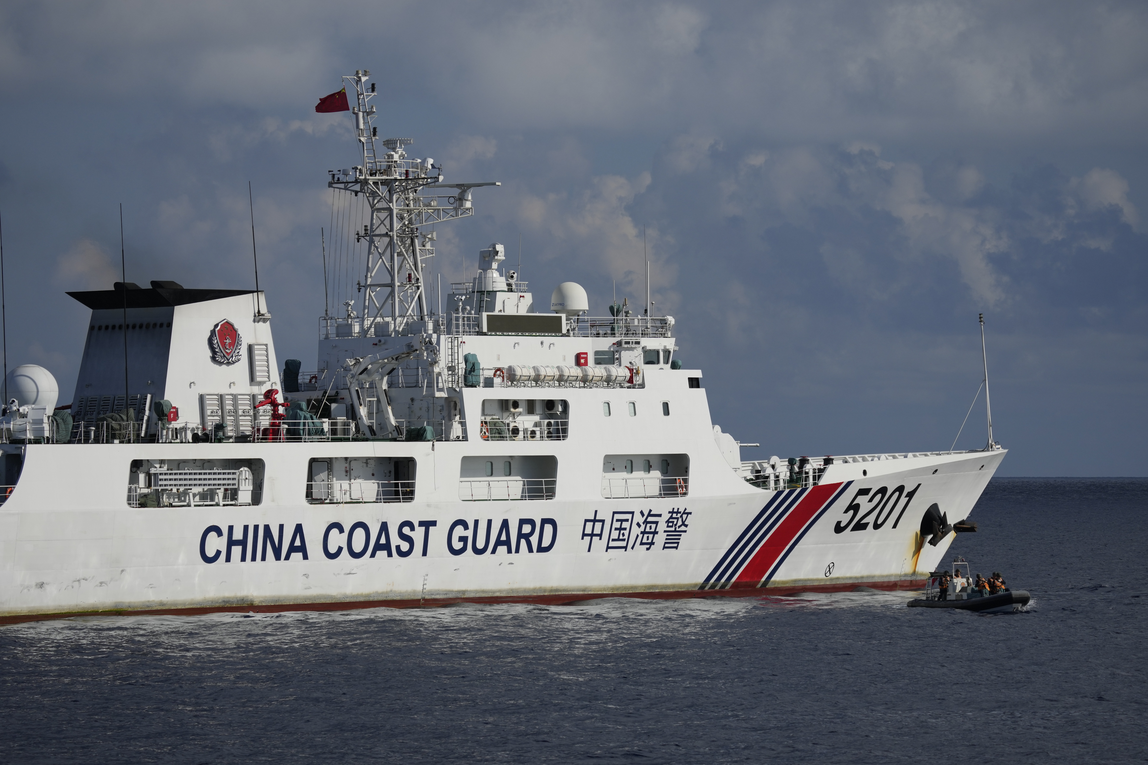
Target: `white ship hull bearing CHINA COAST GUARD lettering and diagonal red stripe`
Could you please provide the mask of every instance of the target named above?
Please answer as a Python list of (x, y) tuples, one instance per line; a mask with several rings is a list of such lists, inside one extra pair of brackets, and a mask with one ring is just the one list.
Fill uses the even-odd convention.
[[(441, 461), (450, 446), (437, 444)], [(124, 507), (121, 463), (140, 448), (28, 447), (0, 508), (0, 620), (916, 588), (954, 536), (928, 544), (926, 508), (968, 517), (1006, 453), (833, 465), (820, 485), (776, 492), (729, 470), (649, 499), (458, 501), (435, 479), (428, 501), (292, 504), (269, 471), (258, 506)], [(270, 448), (288, 467), (293, 451), (313, 452), (228, 448)], [(40, 476), (51, 486), (25, 490)]]

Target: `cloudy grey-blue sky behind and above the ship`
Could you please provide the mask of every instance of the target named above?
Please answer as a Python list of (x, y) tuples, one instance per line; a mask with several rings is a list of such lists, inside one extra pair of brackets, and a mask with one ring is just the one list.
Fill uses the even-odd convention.
[[(316, 365), (355, 297), (347, 114), (414, 139), (506, 245), (677, 320), (743, 459), (951, 446), (984, 376), (999, 475), (1148, 475), (1148, 6), (1137, 2), (92, 2), (0, 6), (9, 368), (70, 400), (119, 280), (254, 288)], [(351, 205), (352, 206), (352, 205)], [(334, 232), (332, 232), (334, 227)], [(984, 395), (956, 442), (986, 440)]]

